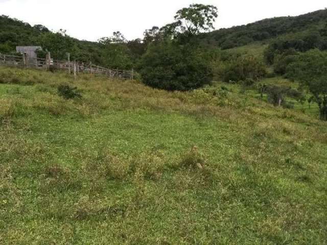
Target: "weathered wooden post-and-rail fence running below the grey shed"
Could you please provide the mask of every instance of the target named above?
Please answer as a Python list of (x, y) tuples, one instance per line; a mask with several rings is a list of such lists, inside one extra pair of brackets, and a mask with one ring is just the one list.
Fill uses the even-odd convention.
[(108, 69), (98, 65), (94, 65), (91, 62), (84, 64), (83, 62), (77, 61), (61, 61), (53, 60), (50, 55), (46, 59), (35, 58), (29, 59), (25, 55), (5, 55), (0, 54), (0, 65), (7, 66), (20, 66), (26, 68), (37, 68), (37, 69), (58, 69), (66, 70), (69, 73), (74, 73), (75, 76), (78, 74), (89, 73), (89, 74), (102, 74), (110, 78), (121, 78), (121, 79), (133, 79), (133, 70), (119, 70), (119, 69)]

